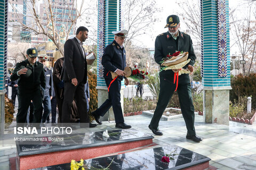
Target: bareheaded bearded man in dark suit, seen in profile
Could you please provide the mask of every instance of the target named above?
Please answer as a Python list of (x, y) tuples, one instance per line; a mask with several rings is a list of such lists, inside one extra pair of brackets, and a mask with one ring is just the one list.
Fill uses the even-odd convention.
[[(87, 62), (83, 42), (87, 37), (88, 29), (79, 27), (76, 30), (76, 37), (68, 39), (64, 45), (62, 123), (70, 123), (71, 106), (75, 99), (81, 127), (86, 126), (84, 123), (90, 123), (84, 94), (84, 84), (87, 81)], [(97, 125), (90, 123), (89, 126), (92, 128)]]

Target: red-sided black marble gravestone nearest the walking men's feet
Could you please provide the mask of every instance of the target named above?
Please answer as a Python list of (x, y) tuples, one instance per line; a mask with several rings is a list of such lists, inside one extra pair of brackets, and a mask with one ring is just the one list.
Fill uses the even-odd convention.
[[(69, 163), (71, 159), (91, 159), (115, 152), (153, 145), (153, 136), (134, 129), (111, 130), (108, 133), (109, 138), (103, 137), (102, 133), (103, 131), (20, 137), (31, 140), (16, 141), (18, 150), (17, 167), (20, 170), (25, 170), (65, 164)], [(54, 141), (50, 138), (57, 140)], [(44, 140), (38, 141), (38, 139)]]

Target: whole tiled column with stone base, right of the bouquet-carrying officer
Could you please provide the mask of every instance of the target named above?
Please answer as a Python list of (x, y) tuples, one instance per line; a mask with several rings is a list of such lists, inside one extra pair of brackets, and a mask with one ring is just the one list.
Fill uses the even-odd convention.
[(229, 125), (228, 0), (201, 0), (201, 15), (205, 122)]

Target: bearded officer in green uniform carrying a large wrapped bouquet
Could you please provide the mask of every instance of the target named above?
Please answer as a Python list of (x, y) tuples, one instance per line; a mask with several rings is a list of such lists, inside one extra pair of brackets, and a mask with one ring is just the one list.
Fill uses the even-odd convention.
[[(163, 58), (177, 51), (188, 52), (188, 58), (190, 58), (190, 62), (183, 68), (188, 69), (192, 73), (194, 71), (193, 65), (195, 63), (196, 56), (190, 36), (184, 32), (179, 31), (180, 20), (177, 15), (168, 16), (166, 22), (167, 24), (165, 25), (165, 28), (167, 27), (168, 31), (158, 35), (155, 40), (154, 57), (156, 63), (161, 65)], [(156, 135), (163, 135), (163, 133), (158, 130), (158, 124), (176, 88), (176, 84), (174, 84), (174, 73), (178, 71), (179, 70), (163, 70), (159, 73), (159, 97), (154, 116), (148, 126), (149, 129)], [(194, 127), (194, 105), (191, 97), (190, 80), (188, 74), (179, 75), (177, 91), (181, 112), (187, 127), (186, 138), (200, 142), (202, 139), (197, 137)]]

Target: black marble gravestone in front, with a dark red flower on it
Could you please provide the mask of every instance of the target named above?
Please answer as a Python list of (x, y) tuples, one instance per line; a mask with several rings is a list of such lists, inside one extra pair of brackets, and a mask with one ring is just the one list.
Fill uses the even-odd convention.
[[(170, 163), (164, 163), (161, 161), (165, 154), (173, 154), (170, 159)], [(111, 163), (111, 161), (113, 162)], [(125, 154), (113, 155), (108, 157), (94, 158), (84, 160), (84, 165), (91, 169), (94, 168), (106, 168), (121, 170), (121, 169), (205, 169), (209, 167), (209, 161), (211, 159), (196, 152), (190, 151), (185, 148), (181, 148), (175, 145), (157, 147), (153, 149), (146, 149), (134, 152), (127, 152)], [(44, 168), (38, 168), (44, 170), (53, 169), (70, 169), (70, 163), (47, 166)]]

